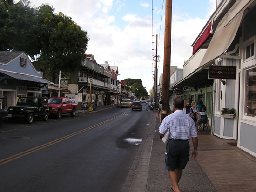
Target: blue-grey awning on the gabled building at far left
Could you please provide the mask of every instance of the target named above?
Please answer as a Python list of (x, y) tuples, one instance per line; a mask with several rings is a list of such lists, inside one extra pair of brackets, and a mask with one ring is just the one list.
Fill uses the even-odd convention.
[(40, 78), (40, 77), (35, 77), (35, 76), (30, 76), (30, 75), (25, 75), (25, 74), (20, 74), (20, 73), (7, 72), (7, 71), (2, 71), (2, 70), (0, 70), (0, 73), (6, 74), (6, 75), (8, 75), (14, 79), (18, 79), (18, 80), (32, 81), (32, 82), (37, 82), (37, 83), (42, 83), (42, 84), (55, 85), (53, 82), (48, 81), (43, 78)]

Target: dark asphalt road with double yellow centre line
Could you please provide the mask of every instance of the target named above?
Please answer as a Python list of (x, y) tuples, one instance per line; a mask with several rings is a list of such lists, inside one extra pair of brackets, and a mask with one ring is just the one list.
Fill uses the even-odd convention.
[(151, 119), (112, 108), (0, 128), (1, 192), (120, 192)]

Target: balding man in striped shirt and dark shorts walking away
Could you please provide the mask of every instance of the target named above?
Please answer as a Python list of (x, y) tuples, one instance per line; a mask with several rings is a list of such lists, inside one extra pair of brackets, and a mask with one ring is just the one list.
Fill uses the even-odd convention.
[(183, 113), (184, 100), (176, 98), (174, 100), (175, 112), (163, 119), (159, 126), (161, 137), (167, 129), (170, 130), (169, 141), (166, 145), (165, 169), (169, 171), (169, 177), (172, 182), (172, 191), (180, 192), (179, 181), (182, 177), (182, 170), (189, 161), (189, 139), (192, 137), (194, 150), (192, 156), (197, 157), (197, 132), (195, 123), (191, 117)]

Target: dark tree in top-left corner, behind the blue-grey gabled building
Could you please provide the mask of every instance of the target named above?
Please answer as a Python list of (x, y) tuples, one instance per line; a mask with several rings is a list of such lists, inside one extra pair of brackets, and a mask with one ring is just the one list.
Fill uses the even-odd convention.
[(29, 7), (29, 1), (0, 1), (1, 51), (25, 51), (34, 57), (40, 53), (36, 28), (34, 8)]

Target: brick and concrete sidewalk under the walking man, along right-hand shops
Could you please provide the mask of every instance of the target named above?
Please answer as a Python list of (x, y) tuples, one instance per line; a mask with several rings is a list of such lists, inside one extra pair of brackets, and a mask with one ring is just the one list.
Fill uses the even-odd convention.
[[(138, 163), (136, 173), (131, 187), (136, 183), (136, 178), (144, 177), (147, 183), (141, 182), (141, 191), (147, 192), (171, 192), (171, 182), (168, 171), (164, 169), (165, 144), (158, 135), (160, 125), (157, 119), (157, 112), (148, 110), (148, 113), (155, 118), (155, 126), (149, 130), (145, 146), (141, 146), (140, 159), (144, 157), (145, 151), (151, 145), (150, 163), (148, 171), (144, 165)], [(153, 141), (147, 142), (153, 132)], [(143, 138), (144, 139), (144, 138)], [(148, 143), (148, 144), (147, 144)], [(256, 158), (243, 152), (234, 145), (236, 141), (220, 139), (211, 136), (210, 132), (198, 132), (198, 157), (193, 159), (190, 156), (186, 168), (183, 170), (179, 186), (182, 192), (255, 192), (256, 191)], [(144, 150), (145, 149), (145, 150)], [(193, 151), (193, 144), (190, 140), (190, 152)], [(147, 153), (146, 153), (147, 154)], [(191, 153), (190, 153), (191, 155)], [(141, 165), (142, 168), (141, 168)], [(130, 187), (130, 192), (132, 188)], [(139, 190), (135, 190), (139, 191)]]

